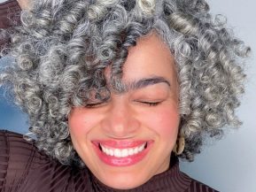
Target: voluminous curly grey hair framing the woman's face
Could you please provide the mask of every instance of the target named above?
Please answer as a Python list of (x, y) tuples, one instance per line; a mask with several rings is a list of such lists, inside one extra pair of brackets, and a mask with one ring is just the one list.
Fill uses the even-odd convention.
[(23, 111), (36, 144), (63, 164), (81, 161), (67, 116), (96, 91), (106, 99), (104, 71), (119, 91), (128, 48), (155, 31), (167, 44), (180, 86), (180, 157), (193, 160), (206, 137), (238, 127), (235, 109), (244, 92), (244, 58), (250, 48), (237, 39), (204, 0), (42, 0), (21, 13), (8, 52), (15, 62), (0, 74)]

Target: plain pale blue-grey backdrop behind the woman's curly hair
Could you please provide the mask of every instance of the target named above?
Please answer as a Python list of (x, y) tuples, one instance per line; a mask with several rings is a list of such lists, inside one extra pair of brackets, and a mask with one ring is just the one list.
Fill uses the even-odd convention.
[[(0, 0), (0, 3), (4, 2)], [(209, 0), (211, 12), (227, 16), (229, 27), (252, 47), (246, 65), (246, 94), (237, 115), (244, 121), (221, 141), (208, 141), (193, 163), (181, 162), (182, 171), (221, 192), (256, 192), (256, 3), (252, 0)], [(0, 92), (0, 127), (26, 133), (26, 116), (6, 104)]]

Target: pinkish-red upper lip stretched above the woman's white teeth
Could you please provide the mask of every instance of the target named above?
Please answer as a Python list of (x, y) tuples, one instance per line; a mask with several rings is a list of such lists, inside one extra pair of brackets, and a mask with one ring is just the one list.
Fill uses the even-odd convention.
[(140, 146), (144, 144), (145, 142), (150, 142), (149, 140), (95, 140), (92, 141), (94, 144), (104, 145), (109, 148), (115, 148), (115, 149), (126, 149), (126, 148), (135, 148), (137, 146)]

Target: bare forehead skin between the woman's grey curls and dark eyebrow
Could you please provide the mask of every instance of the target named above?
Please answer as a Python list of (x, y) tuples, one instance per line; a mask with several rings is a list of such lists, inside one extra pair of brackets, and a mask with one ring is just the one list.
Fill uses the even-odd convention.
[[(105, 76), (109, 82), (110, 68), (106, 69)], [(122, 68), (120, 86), (128, 88), (133, 82), (153, 77), (158, 77), (157, 81), (167, 81), (167, 84), (177, 81), (175, 59), (155, 32), (139, 38), (136, 46), (129, 48), (128, 58)]]

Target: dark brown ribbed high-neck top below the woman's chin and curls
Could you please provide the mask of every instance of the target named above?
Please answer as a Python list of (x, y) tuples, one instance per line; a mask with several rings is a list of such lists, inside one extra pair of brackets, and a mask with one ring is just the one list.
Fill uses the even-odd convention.
[(101, 183), (87, 167), (61, 165), (37, 150), (21, 134), (0, 130), (0, 192), (217, 192), (191, 179), (173, 156), (170, 168), (144, 185), (116, 190)]

